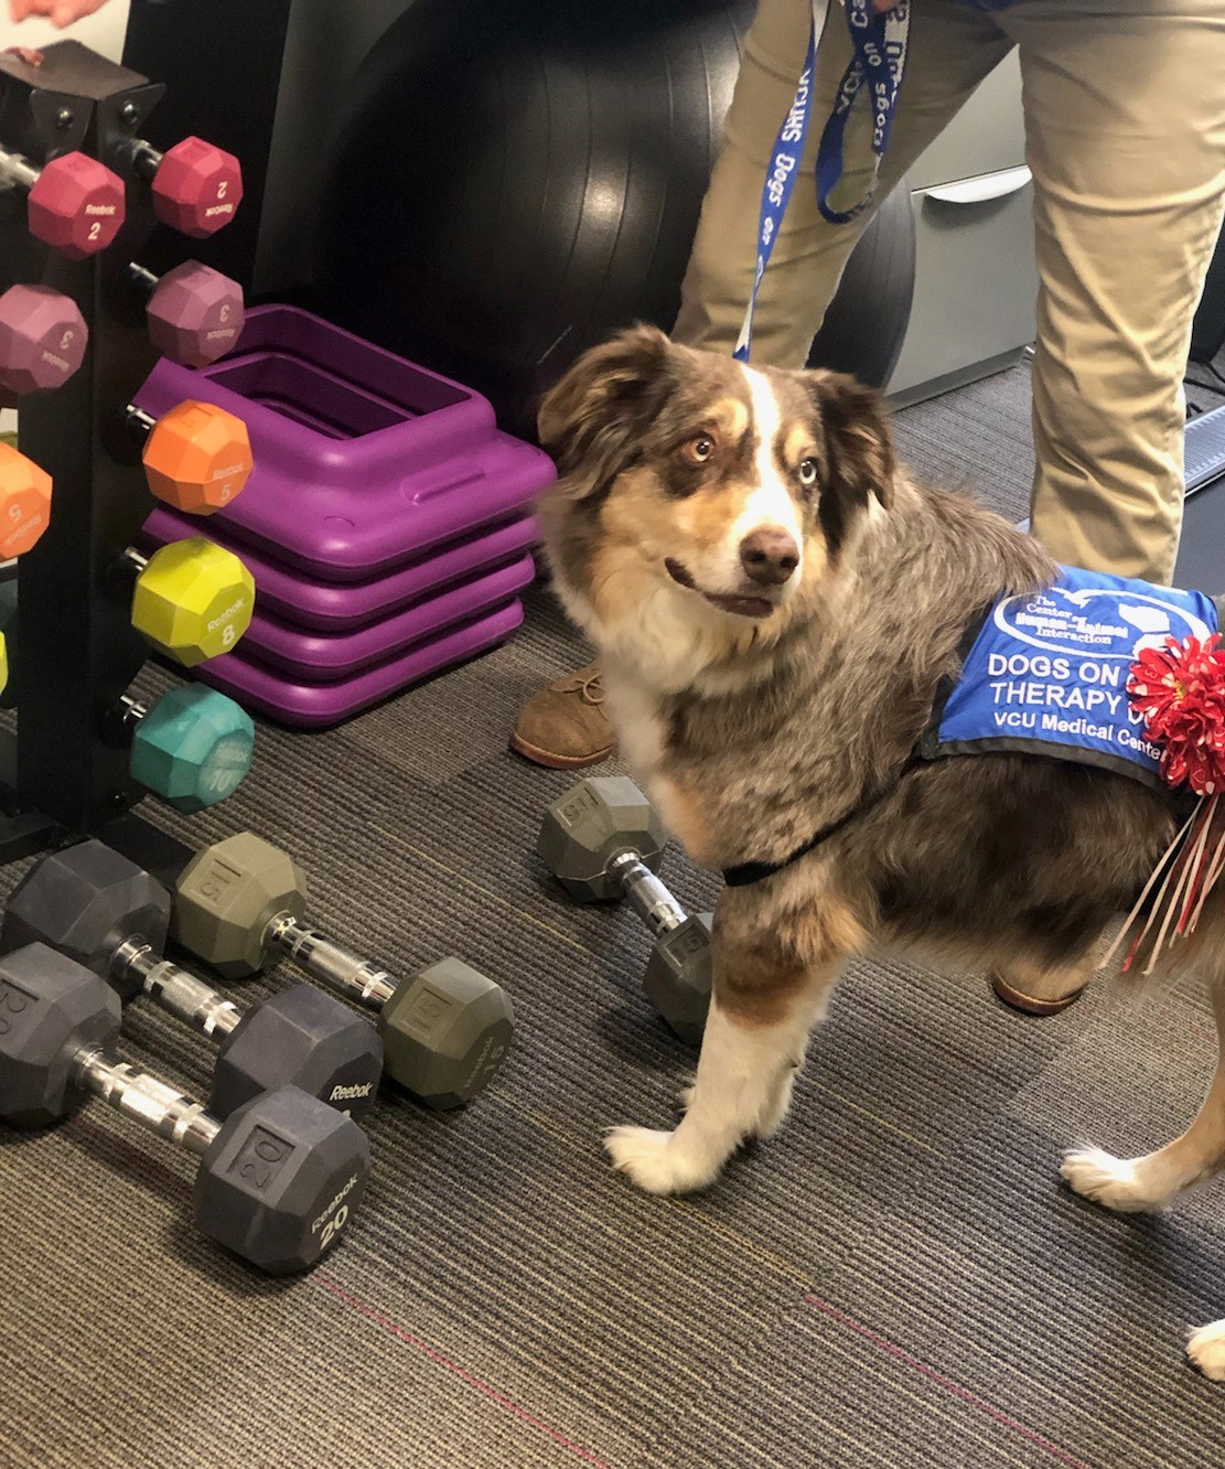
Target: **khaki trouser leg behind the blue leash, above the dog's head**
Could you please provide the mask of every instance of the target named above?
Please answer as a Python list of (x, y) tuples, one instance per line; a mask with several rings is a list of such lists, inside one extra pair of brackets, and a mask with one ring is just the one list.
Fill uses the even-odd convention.
[[(803, 69), (811, 13), (809, 0), (759, 0), (682, 286), (673, 328), (677, 341), (727, 353), (736, 345), (756, 264), (765, 167)], [(1011, 48), (1012, 41), (994, 18), (955, 0), (915, 0), (906, 72), (877, 203)], [(801, 176), (758, 292), (752, 341), (758, 364), (805, 364), (843, 266), (872, 213), (865, 210), (850, 225), (827, 223), (817, 209), (812, 182), (821, 131), (849, 60), (846, 19), (839, 0), (831, 0)], [(852, 119), (846, 173), (834, 194), (842, 207), (862, 198), (871, 176), (868, 132), (862, 115)]]

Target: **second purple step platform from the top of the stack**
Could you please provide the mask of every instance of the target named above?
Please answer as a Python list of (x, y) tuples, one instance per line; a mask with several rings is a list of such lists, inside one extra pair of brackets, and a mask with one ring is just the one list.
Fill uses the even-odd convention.
[(216, 516), (201, 523), (165, 505), (153, 511), (144, 523), (141, 541), (150, 546), (200, 535), (228, 546), (242, 557), (256, 579), (256, 605), (278, 621), (295, 623), (322, 633), (339, 633), (366, 627), (383, 617), (420, 602), (432, 592), (469, 582), (494, 567), (518, 561), (536, 542), (536, 521), (518, 516), (508, 524), (480, 530), (438, 546), (419, 561), (411, 561), (385, 576), (364, 582), (316, 582), (295, 576), (289, 567), (253, 551), (234, 536)]

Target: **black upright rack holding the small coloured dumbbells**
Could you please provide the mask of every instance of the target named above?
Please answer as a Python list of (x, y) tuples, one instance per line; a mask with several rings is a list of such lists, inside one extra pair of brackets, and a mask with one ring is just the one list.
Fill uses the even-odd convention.
[(131, 624), (120, 558), (153, 508), (123, 410), (157, 354), (123, 273), (154, 220), (125, 145), (163, 91), (76, 41), (47, 47), (41, 65), (0, 54), (0, 147), (35, 166), (79, 150), (128, 185), (118, 238), (84, 260), (32, 239), (24, 194), (0, 191), (0, 289), (50, 286), (76, 303), (90, 332), (81, 369), (21, 403), (19, 448), (54, 488), (50, 527), (18, 563), (19, 714), (16, 736), (0, 732), (0, 862), (103, 834), (142, 795), (128, 751), (103, 730), (150, 654)]

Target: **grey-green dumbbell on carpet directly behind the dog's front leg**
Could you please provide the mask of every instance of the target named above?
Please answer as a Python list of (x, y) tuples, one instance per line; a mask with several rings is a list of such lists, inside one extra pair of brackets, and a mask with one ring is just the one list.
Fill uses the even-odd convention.
[(711, 914), (687, 917), (657, 871), (668, 834), (624, 776), (571, 786), (545, 812), (536, 852), (585, 903), (629, 898), (655, 934), (642, 987), (682, 1040), (696, 1046), (711, 1003)]

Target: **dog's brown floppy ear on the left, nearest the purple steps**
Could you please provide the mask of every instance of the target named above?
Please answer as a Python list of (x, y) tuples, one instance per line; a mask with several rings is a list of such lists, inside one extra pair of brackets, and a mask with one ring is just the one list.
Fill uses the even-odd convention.
[(640, 436), (671, 391), (671, 342), (633, 326), (593, 347), (541, 403), (536, 430), (576, 497), (605, 488), (633, 463)]

